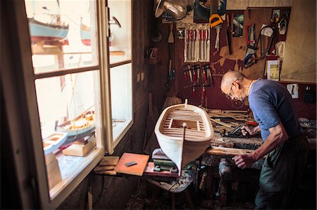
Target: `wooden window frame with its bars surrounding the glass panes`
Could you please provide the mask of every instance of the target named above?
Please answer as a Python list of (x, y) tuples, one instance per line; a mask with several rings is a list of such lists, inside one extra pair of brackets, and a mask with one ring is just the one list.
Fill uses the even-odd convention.
[[(109, 154), (112, 154), (114, 147), (118, 145), (121, 138), (125, 135), (125, 133), (128, 132), (128, 130), (132, 127), (133, 124), (133, 114), (132, 114), (132, 122), (128, 124), (128, 126), (125, 128), (123, 133), (120, 134), (120, 136), (113, 141), (112, 136), (112, 118), (111, 118), (111, 87), (110, 87), (110, 67), (123, 65), (126, 63), (132, 63), (131, 60), (127, 60), (121, 63), (116, 63), (113, 65), (109, 65), (109, 48), (108, 48), (108, 7), (106, 6), (106, 0), (105, 1), (97, 1), (97, 25), (99, 28), (99, 67), (98, 65), (95, 65), (93, 67), (82, 67), (75, 70), (63, 70), (61, 72), (48, 72), (45, 73), (44, 76), (35, 75), (32, 67), (32, 51), (31, 51), (31, 44), (30, 44), (30, 34), (29, 34), (29, 28), (28, 28), (28, 22), (25, 14), (25, 6), (24, 1), (23, 4), (21, 4), (21, 1), (13, 1), (13, 8), (15, 9), (15, 20), (16, 27), (18, 31), (18, 43), (20, 44), (20, 55), (23, 55), (22, 58), (20, 58), (23, 72), (23, 81), (25, 81), (25, 97), (27, 100), (27, 104), (25, 105), (27, 107), (28, 111), (28, 122), (30, 122), (30, 133), (32, 138), (32, 151), (34, 152), (34, 159), (35, 163), (35, 169), (36, 169), (36, 185), (37, 185), (37, 192), (40, 199), (40, 207), (42, 209), (56, 209), (65, 199), (70, 195), (70, 192), (75, 190), (77, 185), (80, 184), (80, 182), (94, 169), (94, 166), (98, 164), (98, 162), (104, 157), (106, 152)], [(131, 7), (132, 9), (132, 7)], [(24, 17), (21, 18), (21, 14), (25, 14)], [(132, 17), (131, 17), (132, 18)], [(106, 36), (105, 36), (106, 35)], [(27, 38), (26, 38), (27, 37)], [(8, 45), (6, 45), (8, 46)], [(101, 47), (100, 47), (101, 46)], [(105, 59), (106, 58), (106, 59)], [(90, 70), (99, 70), (100, 75), (100, 100), (101, 100), (101, 150), (96, 150), (92, 152), (92, 159), (91, 162), (86, 163), (86, 166), (80, 171), (79, 173), (74, 176), (73, 180), (66, 185), (65, 188), (61, 190), (61, 192), (58, 192), (56, 197), (53, 199), (49, 196), (49, 185), (48, 180), (46, 176), (46, 166), (45, 166), (45, 160), (44, 160), (44, 154), (43, 154), (43, 147), (42, 147), (42, 138), (41, 138), (41, 128), (39, 124), (39, 113), (37, 108), (37, 98), (36, 98), (36, 91), (35, 91), (35, 79), (39, 79), (41, 77), (51, 77), (51, 76), (61, 76), (63, 74), (71, 74), (71, 73), (77, 73), (77, 72), (86, 72)], [(132, 70), (133, 72), (133, 70)], [(13, 79), (13, 73), (8, 74), (11, 79)], [(15, 77), (18, 75), (15, 75)], [(133, 83), (132, 83), (133, 84)], [(4, 83), (4, 91), (9, 90), (12, 88), (12, 84)], [(8, 91), (8, 93), (5, 94), (5, 97), (8, 98), (11, 91)], [(13, 91), (14, 92), (14, 91)], [(133, 97), (132, 97), (133, 100)], [(14, 105), (14, 107), (18, 107), (17, 101), (14, 99), (8, 100), (8, 104)], [(132, 101), (133, 104), (133, 101)], [(132, 106), (133, 110), (133, 106)], [(133, 111), (132, 111), (133, 113)], [(20, 136), (23, 131), (20, 131), (20, 126), (18, 123), (18, 116), (13, 113), (8, 113), (8, 120), (9, 124), (11, 125), (11, 136)], [(18, 135), (14, 135), (14, 132), (19, 131)], [(13, 134), (13, 135), (12, 135)], [(18, 140), (19, 141), (19, 140)], [(13, 143), (16, 144), (13, 147), (19, 147), (19, 143)], [(21, 152), (25, 154), (25, 151)], [(21, 159), (21, 155), (18, 152), (14, 152), (13, 156), (15, 157), (15, 167), (19, 168), (20, 164), (16, 162), (18, 159)], [(30, 160), (23, 160), (23, 162), (29, 162)], [(21, 166), (20, 171), (23, 173), (23, 175), (27, 174), (28, 169), (25, 169), (25, 166)], [(22, 175), (22, 174), (21, 174)], [(25, 178), (25, 176), (23, 176)], [(21, 178), (22, 179), (22, 178)], [(30, 192), (27, 192), (27, 190), (23, 191), (23, 185), (24, 183), (21, 182), (21, 180), (18, 181), (19, 188), (20, 188), (20, 194), (22, 197), (22, 203), (24, 208), (27, 208), (27, 206), (32, 206), (32, 202), (27, 201), (27, 197), (30, 198)], [(36, 187), (35, 187), (36, 188)], [(29, 206), (29, 207), (30, 207)]]

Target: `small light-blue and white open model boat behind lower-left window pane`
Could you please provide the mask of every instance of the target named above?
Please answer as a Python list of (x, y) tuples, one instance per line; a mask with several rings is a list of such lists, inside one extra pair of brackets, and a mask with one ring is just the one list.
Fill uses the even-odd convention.
[(54, 133), (51, 133), (46, 138), (44, 138), (42, 140), (44, 155), (47, 155), (50, 152), (53, 152), (54, 150), (58, 149), (58, 147), (63, 145), (66, 138), (67, 138), (67, 133), (63, 133), (63, 132), (54, 132)]

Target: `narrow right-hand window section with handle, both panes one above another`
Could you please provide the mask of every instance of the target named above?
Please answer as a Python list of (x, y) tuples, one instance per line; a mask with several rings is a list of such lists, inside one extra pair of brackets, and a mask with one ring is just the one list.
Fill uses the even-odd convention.
[(131, 2), (108, 1), (110, 18), (109, 63), (113, 135), (112, 152), (132, 126), (132, 29)]

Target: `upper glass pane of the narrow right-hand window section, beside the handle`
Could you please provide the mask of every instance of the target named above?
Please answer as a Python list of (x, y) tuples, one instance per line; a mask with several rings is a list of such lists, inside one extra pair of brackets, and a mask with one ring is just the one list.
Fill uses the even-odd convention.
[[(131, 1), (108, 0), (110, 9), (110, 63), (131, 59)], [(120, 26), (115, 24), (116, 20)]]

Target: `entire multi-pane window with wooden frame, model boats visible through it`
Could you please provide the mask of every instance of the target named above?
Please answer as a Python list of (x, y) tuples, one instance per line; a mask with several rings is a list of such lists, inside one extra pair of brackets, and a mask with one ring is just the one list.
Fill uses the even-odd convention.
[(32, 67), (23, 72), (44, 209), (56, 208), (132, 126), (131, 8), (130, 1), (25, 0), (23, 56)]

